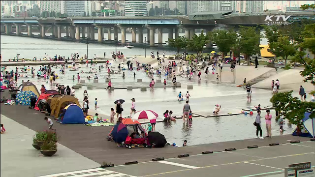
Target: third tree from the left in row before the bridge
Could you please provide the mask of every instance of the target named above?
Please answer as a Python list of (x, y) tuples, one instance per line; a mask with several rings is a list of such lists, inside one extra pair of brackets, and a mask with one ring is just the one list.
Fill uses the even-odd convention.
[[(211, 35), (211, 33), (209, 33)], [(233, 30), (214, 30), (212, 40), (223, 53), (223, 59), (237, 41), (237, 33)]]

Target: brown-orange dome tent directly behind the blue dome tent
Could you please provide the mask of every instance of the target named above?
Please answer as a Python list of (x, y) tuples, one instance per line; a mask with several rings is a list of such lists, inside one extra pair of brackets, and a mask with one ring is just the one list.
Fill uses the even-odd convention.
[(80, 106), (80, 102), (75, 96), (63, 95), (59, 97), (53, 97), (50, 103), (51, 116), (59, 118), (59, 115), (63, 112), (63, 109), (69, 104), (76, 104)]

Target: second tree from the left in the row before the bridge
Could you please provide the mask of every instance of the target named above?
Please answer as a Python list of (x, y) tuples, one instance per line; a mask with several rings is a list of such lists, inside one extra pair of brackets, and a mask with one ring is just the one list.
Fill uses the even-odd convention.
[(192, 39), (189, 40), (188, 48), (189, 50), (192, 50), (194, 52), (202, 52), (203, 47), (205, 44), (209, 42), (209, 36), (203, 34), (203, 30), (201, 30), (201, 33), (199, 35), (195, 34), (192, 36)]

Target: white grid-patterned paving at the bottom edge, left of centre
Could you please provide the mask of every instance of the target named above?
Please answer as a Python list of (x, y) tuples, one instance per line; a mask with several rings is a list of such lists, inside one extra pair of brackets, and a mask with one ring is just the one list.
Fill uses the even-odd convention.
[(45, 175), (40, 177), (134, 177), (123, 173), (118, 173), (103, 168), (95, 168), (89, 170), (79, 170), (74, 172)]

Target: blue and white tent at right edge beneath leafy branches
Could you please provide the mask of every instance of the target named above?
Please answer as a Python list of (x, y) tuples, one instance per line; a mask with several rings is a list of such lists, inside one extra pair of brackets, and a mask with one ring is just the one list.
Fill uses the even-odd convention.
[(297, 134), (297, 128), (293, 131), (293, 136), (302, 136), (302, 137), (310, 137), (315, 138), (315, 118), (310, 118), (311, 113), (305, 112), (303, 118), (303, 130), (301, 130), (301, 134)]

